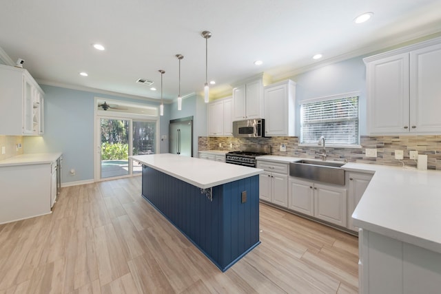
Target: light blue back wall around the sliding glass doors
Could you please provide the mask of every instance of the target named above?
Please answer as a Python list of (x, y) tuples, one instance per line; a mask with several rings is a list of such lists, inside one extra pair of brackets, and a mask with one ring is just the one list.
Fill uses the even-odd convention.
[[(141, 100), (71, 90), (62, 87), (41, 85), (45, 92), (43, 136), (24, 136), (23, 148), (25, 153), (57, 152), (63, 153), (63, 169), (61, 182), (77, 182), (93, 180), (94, 162), (94, 98), (109, 98), (112, 100), (132, 101)], [(158, 103), (145, 102), (157, 106)], [(160, 134), (168, 136), (168, 121), (170, 120), (170, 105), (165, 105), (167, 114), (160, 118)], [(168, 145), (161, 141), (161, 153), (168, 151)], [(70, 175), (70, 169), (76, 174)]]

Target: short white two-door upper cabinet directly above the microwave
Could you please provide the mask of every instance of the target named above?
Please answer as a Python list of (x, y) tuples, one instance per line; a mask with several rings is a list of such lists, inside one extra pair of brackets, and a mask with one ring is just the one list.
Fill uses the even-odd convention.
[(233, 118), (263, 118), (263, 80), (250, 81), (233, 89)]

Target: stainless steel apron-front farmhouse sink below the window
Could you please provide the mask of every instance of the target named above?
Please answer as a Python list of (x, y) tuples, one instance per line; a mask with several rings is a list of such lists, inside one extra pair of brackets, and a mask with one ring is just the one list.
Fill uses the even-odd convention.
[(327, 182), (334, 185), (345, 185), (345, 162), (320, 160), (298, 160), (289, 164), (289, 176)]

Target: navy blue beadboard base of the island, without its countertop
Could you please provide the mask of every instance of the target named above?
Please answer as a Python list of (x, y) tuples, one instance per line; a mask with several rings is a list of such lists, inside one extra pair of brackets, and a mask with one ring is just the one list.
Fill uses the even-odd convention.
[(212, 187), (210, 200), (200, 188), (144, 165), (142, 186), (143, 198), (221, 271), (260, 244), (258, 176)]

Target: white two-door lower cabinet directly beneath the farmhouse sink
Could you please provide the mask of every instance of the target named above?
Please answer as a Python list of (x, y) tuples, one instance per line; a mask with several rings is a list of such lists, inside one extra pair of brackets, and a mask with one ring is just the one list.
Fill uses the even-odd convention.
[(346, 227), (347, 189), (291, 177), (289, 209)]

